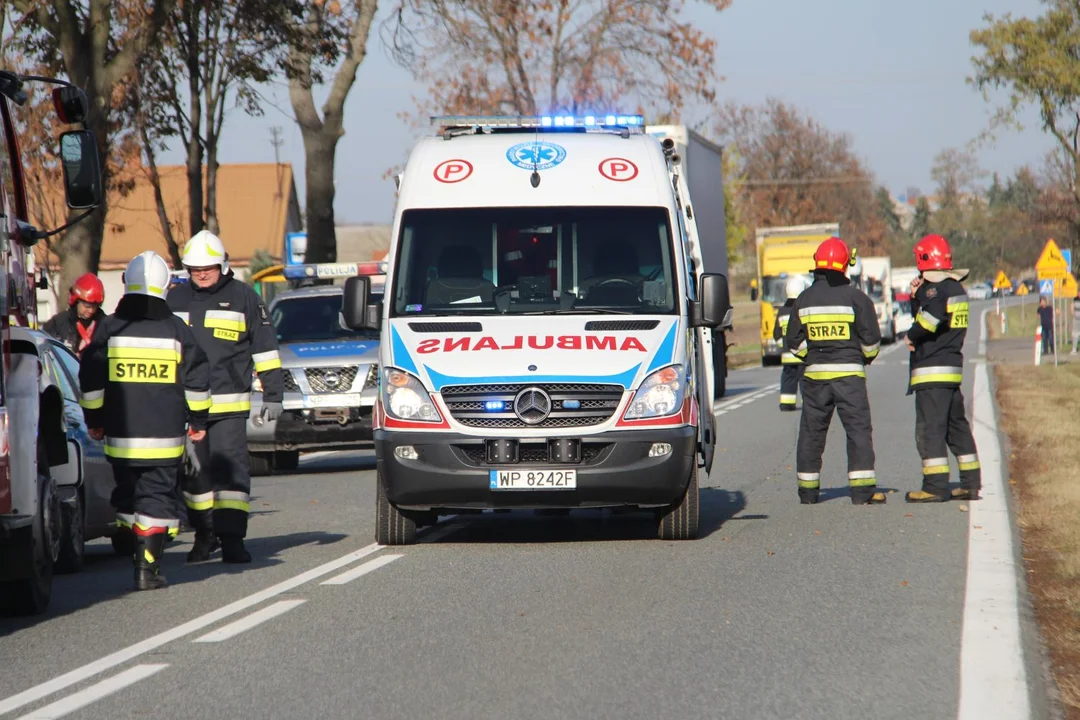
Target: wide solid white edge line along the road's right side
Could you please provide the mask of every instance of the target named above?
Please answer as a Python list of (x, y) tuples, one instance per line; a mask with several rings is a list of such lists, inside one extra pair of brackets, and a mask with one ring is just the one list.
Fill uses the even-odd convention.
[[(985, 311), (984, 311), (985, 314)], [(981, 343), (982, 350), (982, 343)], [(959, 720), (1030, 717), (1009, 521), (1009, 491), (988, 370), (975, 368), (973, 432), (983, 466), (982, 500), (970, 504), (968, 587), (960, 641)], [(1021, 575), (1022, 576), (1022, 575)]]

